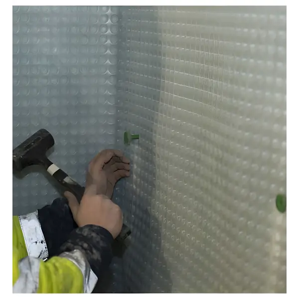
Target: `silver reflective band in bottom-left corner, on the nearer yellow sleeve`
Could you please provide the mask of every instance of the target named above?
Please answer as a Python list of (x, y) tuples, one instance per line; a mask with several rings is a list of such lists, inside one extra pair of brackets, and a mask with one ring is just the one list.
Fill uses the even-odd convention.
[(26, 257), (18, 263), (20, 276), (12, 286), (12, 293), (33, 294), (37, 293), (39, 282), (39, 263), (40, 260)]

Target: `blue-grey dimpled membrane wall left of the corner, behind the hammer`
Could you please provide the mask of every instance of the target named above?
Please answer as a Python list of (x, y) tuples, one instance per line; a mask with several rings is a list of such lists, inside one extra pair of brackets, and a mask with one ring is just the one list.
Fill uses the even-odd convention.
[[(12, 147), (47, 129), (49, 156), (79, 182), (95, 153), (115, 145), (118, 8), (12, 7)], [(12, 177), (12, 211), (50, 203), (44, 175)]]

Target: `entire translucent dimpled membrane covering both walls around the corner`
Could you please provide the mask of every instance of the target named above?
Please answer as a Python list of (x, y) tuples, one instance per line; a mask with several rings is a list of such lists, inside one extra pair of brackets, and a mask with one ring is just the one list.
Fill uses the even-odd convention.
[[(12, 147), (40, 128), (82, 183), (100, 149), (132, 160), (102, 292), (286, 292), (286, 7), (13, 7)], [(12, 211), (55, 193), (13, 177)]]

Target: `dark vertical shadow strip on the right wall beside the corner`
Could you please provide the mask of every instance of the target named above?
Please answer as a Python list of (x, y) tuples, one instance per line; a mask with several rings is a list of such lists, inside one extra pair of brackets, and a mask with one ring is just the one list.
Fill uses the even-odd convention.
[[(153, 124), (162, 67), (157, 11), (145, 6), (120, 10), (116, 144), (131, 160), (131, 177), (118, 184), (115, 201), (122, 207), (132, 235), (122, 259), (114, 259), (95, 293), (115, 292), (112, 285), (116, 284), (122, 285), (116, 293), (171, 293), (161, 228), (151, 209), (156, 201)], [(140, 134), (140, 140), (125, 147), (123, 134), (128, 130)]]

